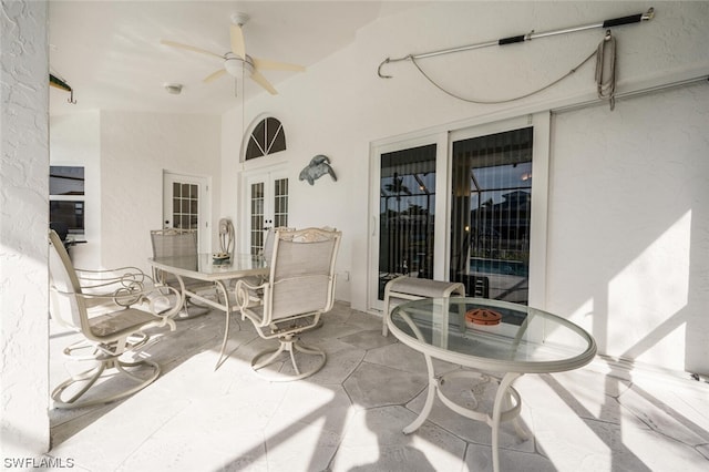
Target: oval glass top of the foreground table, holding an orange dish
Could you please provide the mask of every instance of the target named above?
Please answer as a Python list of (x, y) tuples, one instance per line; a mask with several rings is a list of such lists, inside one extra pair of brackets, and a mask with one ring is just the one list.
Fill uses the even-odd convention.
[(483, 298), (408, 301), (392, 310), (388, 322), (399, 340), (423, 353), (494, 371), (571, 370), (596, 353), (593, 337), (572, 321)]

